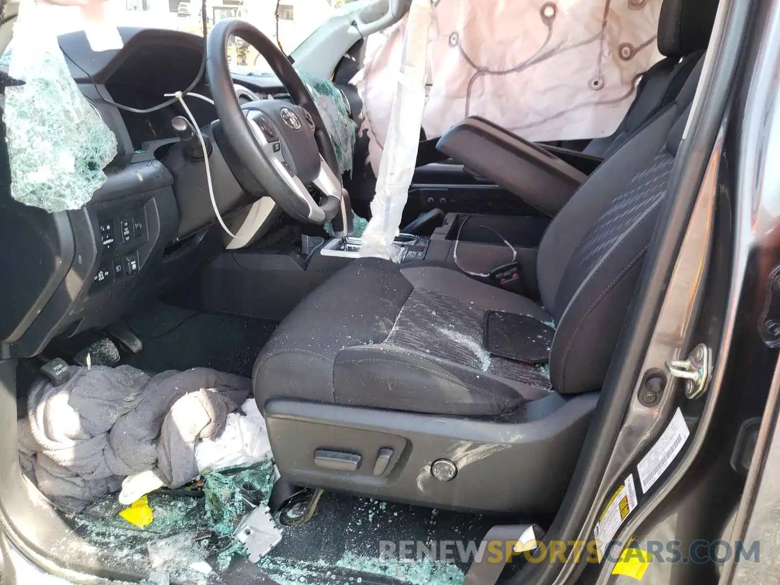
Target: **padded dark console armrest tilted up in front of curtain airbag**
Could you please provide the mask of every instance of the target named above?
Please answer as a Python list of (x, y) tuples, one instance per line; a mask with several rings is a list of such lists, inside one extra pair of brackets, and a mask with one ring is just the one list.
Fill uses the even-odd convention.
[(544, 148), (478, 116), (452, 126), (436, 147), (548, 215), (555, 215), (587, 179)]

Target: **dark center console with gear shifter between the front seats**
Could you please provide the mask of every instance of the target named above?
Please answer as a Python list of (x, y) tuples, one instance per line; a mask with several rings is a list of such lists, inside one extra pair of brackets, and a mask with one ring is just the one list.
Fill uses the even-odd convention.
[[(395, 244), (403, 263), (432, 261), (491, 277), (511, 263), (519, 275), (511, 290), (536, 299), (537, 246), (548, 222), (541, 216), (451, 213), (430, 237), (401, 234)], [(360, 245), (357, 238), (302, 238), (292, 230), (269, 236), (264, 243), (219, 254), (184, 282), (171, 302), (281, 321), (324, 280), (360, 257)], [(502, 273), (495, 276), (480, 280), (503, 286)]]

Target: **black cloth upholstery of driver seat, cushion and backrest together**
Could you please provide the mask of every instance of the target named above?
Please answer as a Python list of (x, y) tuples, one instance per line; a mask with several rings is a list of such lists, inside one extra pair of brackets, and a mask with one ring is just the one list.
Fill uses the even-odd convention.
[[(601, 388), (672, 173), (701, 62), (675, 101), (597, 168), (538, 251), (541, 303), (452, 268), (353, 261), (279, 325), (255, 397), (501, 417)], [(484, 349), (488, 310), (555, 325), (548, 366)]]

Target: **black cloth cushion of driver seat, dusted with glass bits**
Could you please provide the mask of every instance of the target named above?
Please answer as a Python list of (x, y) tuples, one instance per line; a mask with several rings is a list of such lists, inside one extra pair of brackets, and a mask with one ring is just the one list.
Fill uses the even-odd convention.
[(289, 398), (418, 413), (512, 412), (548, 393), (548, 368), (491, 356), (487, 310), (551, 322), (533, 301), (459, 271), (353, 261), (307, 296), (258, 356), (258, 406)]

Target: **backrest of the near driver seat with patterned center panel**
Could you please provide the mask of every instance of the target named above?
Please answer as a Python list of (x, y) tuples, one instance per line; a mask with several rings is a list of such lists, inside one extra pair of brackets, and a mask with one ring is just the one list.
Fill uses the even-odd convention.
[(553, 388), (601, 388), (658, 218), (700, 58), (674, 101), (658, 112), (573, 194), (541, 240), (537, 278), (557, 325)]

